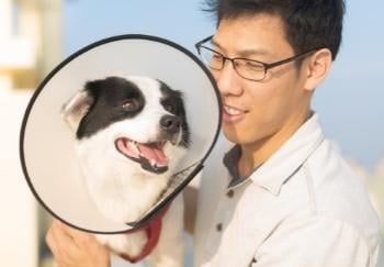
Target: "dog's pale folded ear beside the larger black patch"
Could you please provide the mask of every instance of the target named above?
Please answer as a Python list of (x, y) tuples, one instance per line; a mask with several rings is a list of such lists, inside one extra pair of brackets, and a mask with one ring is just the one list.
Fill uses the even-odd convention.
[(61, 116), (74, 133), (77, 132), (81, 119), (88, 113), (93, 101), (88, 90), (81, 90), (63, 105)]

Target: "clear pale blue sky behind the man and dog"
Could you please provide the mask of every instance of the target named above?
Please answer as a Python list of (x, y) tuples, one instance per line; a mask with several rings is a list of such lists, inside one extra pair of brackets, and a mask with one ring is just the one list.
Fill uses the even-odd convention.
[[(120, 34), (169, 38), (194, 52), (214, 32), (197, 0), (66, 0), (66, 56)], [(349, 0), (339, 58), (317, 89), (314, 109), (326, 135), (365, 167), (384, 157), (384, 2)]]

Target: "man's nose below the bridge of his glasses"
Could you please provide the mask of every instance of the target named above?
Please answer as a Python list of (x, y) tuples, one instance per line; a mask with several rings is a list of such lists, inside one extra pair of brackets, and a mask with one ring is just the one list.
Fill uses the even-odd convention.
[(233, 63), (226, 60), (222, 70), (214, 70), (218, 90), (223, 96), (239, 96), (242, 92), (240, 77), (234, 69)]

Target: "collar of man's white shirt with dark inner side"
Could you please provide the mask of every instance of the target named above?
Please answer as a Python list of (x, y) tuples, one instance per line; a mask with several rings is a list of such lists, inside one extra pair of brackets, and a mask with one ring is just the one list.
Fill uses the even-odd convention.
[(241, 181), (237, 170), (241, 151), (240, 146), (236, 145), (224, 157), (224, 164), (234, 178), (229, 187), (242, 185), (245, 180), (251, 179), (255, 183), (278, 196), (282, 185), (303, 165), (323, 141), (324, 135), (319, 124), (319, 118), (315, 113), (279, 151)]

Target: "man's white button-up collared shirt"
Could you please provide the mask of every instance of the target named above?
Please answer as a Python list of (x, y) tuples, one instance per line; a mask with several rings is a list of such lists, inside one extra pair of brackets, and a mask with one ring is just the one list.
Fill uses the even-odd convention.
[(228, 168), (228, 146), (217, 148), (201, 179), (196, 267), (375, 266), (379, 219), (317, 114), (240, 182), (238, 148)]

